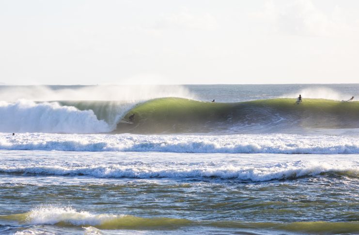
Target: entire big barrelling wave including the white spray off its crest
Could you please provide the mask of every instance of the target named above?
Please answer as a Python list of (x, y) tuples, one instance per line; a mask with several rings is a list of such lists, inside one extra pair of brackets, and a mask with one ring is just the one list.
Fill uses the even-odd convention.
[[(330, 88), (304, 88), (300, 105), (295, 105), (297, 93), (284, 95), (293, 98), (236, 103), (196, 101), (184, 86), (5, 86), (0, 90), (4, 99), (0, 101), (0, 132), (256, 134), (325, 130), (337, 134), (340, 129), (359, 129), (359, 103), (332, 100), (342, 95)], [(16, 100), (18, 97), (27, 99)], [(133, 114), (136, 118), (129, 122)]]

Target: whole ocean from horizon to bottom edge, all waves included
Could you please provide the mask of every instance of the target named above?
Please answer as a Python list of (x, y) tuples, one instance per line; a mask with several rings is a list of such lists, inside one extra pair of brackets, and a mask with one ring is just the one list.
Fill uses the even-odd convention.
[(0, 86), (0, 234), (359, 234), (357, 98), (359, 84)]

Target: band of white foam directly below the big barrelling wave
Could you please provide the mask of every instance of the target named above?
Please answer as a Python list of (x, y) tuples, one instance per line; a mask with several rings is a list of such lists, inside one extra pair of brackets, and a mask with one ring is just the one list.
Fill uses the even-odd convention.
[(296, 134), (134, 135), (0, 134), (0, 149), (177, 153), (358, 154), (359, 139)]

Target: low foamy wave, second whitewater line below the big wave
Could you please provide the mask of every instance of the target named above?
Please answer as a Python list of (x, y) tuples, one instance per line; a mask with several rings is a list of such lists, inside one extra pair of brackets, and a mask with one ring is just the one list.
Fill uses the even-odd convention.
[(85, 175), (94, 177), (115, 178), (198, 178), (215, 177), (220, 179), (238, 179), (253, 182), (263, 182), (276, 179), (291, 179), (303, 176), (316, 176), (324, 173), (334, 173), (347, 176), (358, 176), (359, 164), (347, 163), (333, 165), (325, 162), (288, 162), (266, 167), (254, 166), (181, 166), (166, 167), (146, 165), (123, 166), (30, 166), (30, 167), (0, 167), (1, 173), (20, 173), (38, 175)]

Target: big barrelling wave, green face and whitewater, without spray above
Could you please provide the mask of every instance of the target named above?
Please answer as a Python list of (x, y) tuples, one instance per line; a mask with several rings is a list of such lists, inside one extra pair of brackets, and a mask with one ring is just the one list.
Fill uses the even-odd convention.
[[(135, 114), (133, 121), (129, 116)], [(44, 133), (335, 133), (359, 129), (359, 102), (268, 99), (209, 103), (183, 98), (147, 102), (0, 102), (0, 132)]]

